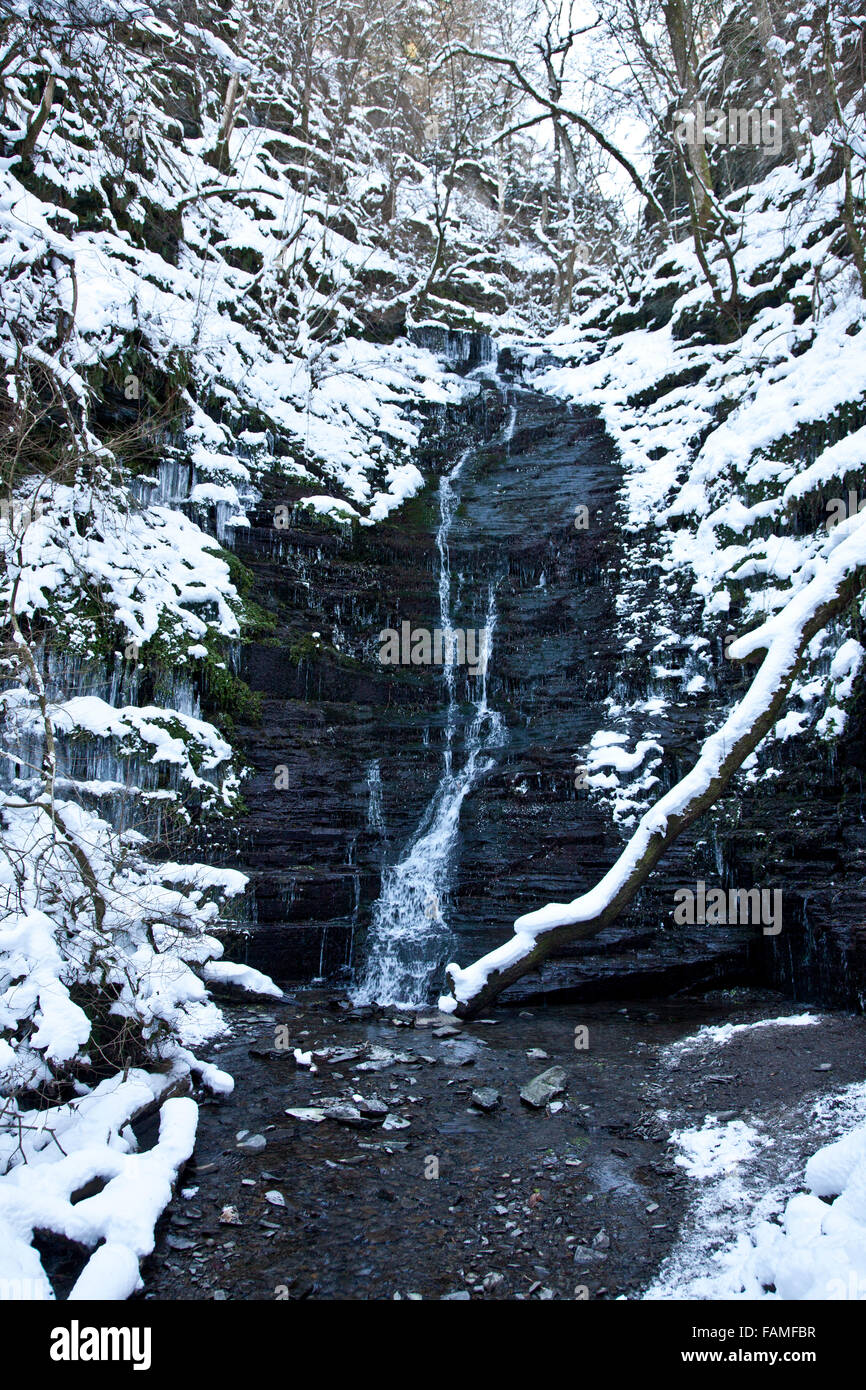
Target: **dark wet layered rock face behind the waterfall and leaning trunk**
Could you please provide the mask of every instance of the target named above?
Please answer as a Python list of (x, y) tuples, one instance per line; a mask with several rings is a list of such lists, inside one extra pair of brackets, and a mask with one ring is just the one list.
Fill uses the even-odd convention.
[[(466, 366), (484, 357), (463, 352)], [(291, 498), (275, 481), (238, 534), (250, 596), (274, 628), (240, 656), (261, 720), (235, 730), (252, 766), (249, 816), (221, 852), (250, 874), (252, 894), (228, 954), (279, 983), (352, 979), (382, 870), (411, 841), (438, 784), (442, 670), (379, 664), (379, 632), (439, 623), (438, 477), (471, 441), (449, 535), (453, 620), (482, 627), (495, 587), (488, 701), (507, 737), (460, 810), (452, 885), (436, 905), (452, 958), (467, 963), (506, 940), (518, 913), (577, 897), (621, 848), (621, 834), (575, 788), (574, 774), (580, 752), (609, 727), (605, 702), (634, 694), (616, 641), (616, 595), (635, 578), (616, 524), (617, 464), (592, 416), (481, 377), (461, 411), (431, 416), (417, 459), (430, 486), (388, 523), (353, 528), (296, 510), (291, 527), (277, 530), (274, 509)], [(585, 527), (575, 525), (581, 507)], [(721, 695), (734, 678), (721, 674)], [(457, 760), (473, 689), (460, 670)], [(671, 701), (659, 791), (703, 734), (705, 716)], [(809, 803), (791, 817), (798, 776)], [(214, 856), (213, 841), (207, 849)], [(766, 980), (801, 998), (862, 1002), (865, 853), (855, 808), (840, 815), (827, 767), (791, 769), (784, 794), (746, 792), (727, 824), (684, 835), (619, 923), (545, 963), (509, 998)], [(778, 940), (748, 927), (673, 924), (677, 887), (699, 877), (767, 883), (767, 863), (785, 890)], [(431, 980), (431, 999), (439, 987)]]

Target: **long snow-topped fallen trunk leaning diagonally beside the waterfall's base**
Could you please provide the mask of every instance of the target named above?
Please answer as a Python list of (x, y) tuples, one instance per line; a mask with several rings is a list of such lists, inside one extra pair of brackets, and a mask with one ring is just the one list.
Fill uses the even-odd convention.
[(734, 660), (763, 657), (755, 680), (706, 739), (691, 771), (646, 812), (613, 867), (573, 902), (552, 902), (517, 917), (514, 935), (466, 969), (446, 966), (450, 992), (439, 999), (441, 1009), (473, 1017), (555, 951), (616, 920), (666, 849), (721, 796), (773, 727), (809, 642), (851, 603), (865, 580), (866, 516), (859, 514), (831, 532), (812, 580), (771, 619), (731, 644)]

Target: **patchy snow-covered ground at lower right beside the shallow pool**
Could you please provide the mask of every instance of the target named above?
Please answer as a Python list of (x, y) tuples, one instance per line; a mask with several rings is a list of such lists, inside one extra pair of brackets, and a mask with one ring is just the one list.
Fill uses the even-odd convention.
[[(663, 1061), (709, 1061), (755, 1029), (815, 1027), (816, 1015), (701, 1029)], [(784, 1036), (784, 1034), (783, 1034)], [(670, 1126), (694, 1183), (677, 1243), (645, 1298), (866, 1300), (866, 1083), (809, 1105)]]

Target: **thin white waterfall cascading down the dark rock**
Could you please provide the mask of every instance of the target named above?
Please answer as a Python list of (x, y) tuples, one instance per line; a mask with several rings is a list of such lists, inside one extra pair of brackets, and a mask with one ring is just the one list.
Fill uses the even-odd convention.
[(466, 450), (439, 481), (439, 623), (445, 635), (445, 688), (448, 709), (442, 773), (436, 790), (399, 863), (385, 869), (382, 890), (373, 908), (367, 937), (367, 963), (354, 991), (357, 1004), (395, 1004), (417, 1008), (427, 1002), (432, 983), (450, 958), (452, 935), (446, 919), (460, 809), (477, 780), (493, 766), (488, 752), (505, 742), (505, 721), (488, 706), (488, 663), (496, 626), (496, 587), (489, 585), (485, 641), (481, 644), (480, 694), (466, 731), (464, 762), (455, 770), (457, 695), (450, 605), (450, 555), (448, 537), (457, 507), (456, 480), (471, 450)]

